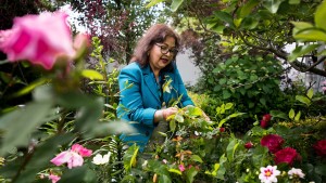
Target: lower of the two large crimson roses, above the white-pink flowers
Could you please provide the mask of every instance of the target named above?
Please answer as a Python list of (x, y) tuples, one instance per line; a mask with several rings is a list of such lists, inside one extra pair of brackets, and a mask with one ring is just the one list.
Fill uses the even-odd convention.
[(298, 159), (298, 156), (299, 154), (294, 148), (286, 147), (275, 153), (274, 161), (276, 165), (286, 162), (289, 166), (292, 166), (293, 161)]

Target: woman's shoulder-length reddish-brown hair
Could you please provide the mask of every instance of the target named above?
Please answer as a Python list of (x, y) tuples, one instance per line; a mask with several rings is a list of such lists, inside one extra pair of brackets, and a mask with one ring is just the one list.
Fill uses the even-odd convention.
[[(152, 27), (150, 27), (145, 34), (145, 36), (139, 39), (130, 62), (137, 62), (142, 67), (147, 66), (149, 64), (148, 52), (152, 49), (152, 47), (155, 43), (164, 42), (166, 37), (173, 37), (175, 39), (175, 48), (179, 48), (180, 38), (178, 34), (176, 34), (171, 27), (168, 27), (165, 24), (155, 24)], [(174, 69), (175, 57), (176, 54), (174, 55), (173, 61), (162, 69), (163, 71), (172, 71)]]

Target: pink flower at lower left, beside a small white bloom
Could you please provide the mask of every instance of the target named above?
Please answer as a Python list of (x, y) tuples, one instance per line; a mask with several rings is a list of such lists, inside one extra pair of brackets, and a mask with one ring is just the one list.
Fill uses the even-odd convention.
[(83, 157), (88, 157), (91, 155), (91, 151), (83, 147), (79, 144), (74, 144), (72, 149), (61, 152), (57, 155), (51, 162), (55, 166), (61, 166), (63, 164), (67, 164), (68, 169), (73, 167), (80, 167), (84, 164)]

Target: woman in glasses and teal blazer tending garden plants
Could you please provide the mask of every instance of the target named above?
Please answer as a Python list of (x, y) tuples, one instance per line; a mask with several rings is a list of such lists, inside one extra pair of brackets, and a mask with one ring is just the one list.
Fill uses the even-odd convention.
[[(179, 44), (178, 35), (168, 26), (152, 26), (138, 41), (130, 64), (118, 76), (117, 116), (133, 121), (130, 123), (137, 130), (136, 133), (122, 134), (121, 139), (129, 145), (137, 143), (140, 152), (159, 122), (166, 125), (167, 117), (177, 112), (175, 107), (166, 108), (166, 104), (181, 96), (178, 107), (193, 105), (176, 68)], [(170, 92), (163, 92), (164, 83), (170, 84)]]

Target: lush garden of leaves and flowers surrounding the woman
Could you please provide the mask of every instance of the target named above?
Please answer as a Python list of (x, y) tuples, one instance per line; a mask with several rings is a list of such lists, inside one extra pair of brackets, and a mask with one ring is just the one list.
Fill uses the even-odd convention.
[[(0, 17), (1, 182), (326, 182), (325, 0), (1, 0)], [(147, 159), (118, 140), (112, 63), (154, 23), (202, 75)]]

